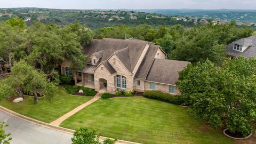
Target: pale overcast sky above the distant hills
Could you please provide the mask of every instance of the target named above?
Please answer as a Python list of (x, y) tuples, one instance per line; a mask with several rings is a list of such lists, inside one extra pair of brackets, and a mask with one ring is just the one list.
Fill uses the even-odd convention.
[(53, 9), (256, 9), (256, 0), (0, 0), (1, 8)]

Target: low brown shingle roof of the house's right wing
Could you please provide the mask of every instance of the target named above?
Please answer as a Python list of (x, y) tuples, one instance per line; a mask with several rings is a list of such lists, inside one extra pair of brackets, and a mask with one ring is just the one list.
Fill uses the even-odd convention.
[(183, 70), (190, 62), (155, 59), (147, 75), (146, 81), (176, 85), (179, 71)]

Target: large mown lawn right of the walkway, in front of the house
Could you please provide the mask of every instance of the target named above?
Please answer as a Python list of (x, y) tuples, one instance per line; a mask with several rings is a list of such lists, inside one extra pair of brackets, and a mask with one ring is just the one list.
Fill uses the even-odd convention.
[(146, 98), (99, 99), (61, 126), (140, 143), (235, 143), (191, 118), (187, 109)]

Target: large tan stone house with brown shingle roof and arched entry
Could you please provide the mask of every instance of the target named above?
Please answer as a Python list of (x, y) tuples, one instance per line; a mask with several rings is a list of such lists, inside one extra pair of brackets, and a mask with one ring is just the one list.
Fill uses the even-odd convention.
[(167, 60), (160, 46), (139, 39), (93, 39), (83, 47), (89, 55), (83, 69), (71, 71), (70, 62), (61, 64), (61, 74), (73, 76), (75, 84), (95, 91), (160, 90), (179, 94), (175, 82), (179, 71), (190, 62)]

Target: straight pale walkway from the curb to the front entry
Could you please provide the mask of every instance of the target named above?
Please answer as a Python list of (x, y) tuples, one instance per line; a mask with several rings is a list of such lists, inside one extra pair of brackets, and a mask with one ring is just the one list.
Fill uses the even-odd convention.
[(76, 107), (75, 109), (69, 111), (67, 114), (61, 116), (60, 118), (56, 119), (55, 121), (51, 122), (50, 124), (52, 125), (57, 125), (59, 126), (63, 121), (65, 121), (65, 119), (69, 118), (70, 116), (74, 115), (75, 113), (77, 113), (79, 110), (91, 105), (91, 103), (93, 103), (94, 101), (97, 101), (98, 99), (100, 99), (100, 93), (97, 93), (93, 99), (83, 103), (82, 105)]

